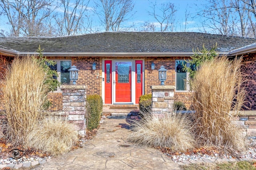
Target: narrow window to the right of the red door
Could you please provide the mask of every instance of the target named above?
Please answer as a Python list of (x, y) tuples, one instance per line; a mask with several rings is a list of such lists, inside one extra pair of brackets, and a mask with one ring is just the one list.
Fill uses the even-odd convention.
[[(184, 70), (184, 66), (190, 66), (185, 60), (176, 60), (175, 70), (176, 70), (176, 91), (186, 91), (189, 90), (188, 85), (188, 72)], [(192, 70), (195, 69), (195, 65), (190, 66)]]

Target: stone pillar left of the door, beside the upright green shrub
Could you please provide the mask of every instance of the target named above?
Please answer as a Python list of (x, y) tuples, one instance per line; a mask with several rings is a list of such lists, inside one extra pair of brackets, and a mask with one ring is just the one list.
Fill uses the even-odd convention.
[(78, 135), (84, 137), (86, 129), (86, 86), (62, 85), (63, 111), (68, 121), (73, 123)]

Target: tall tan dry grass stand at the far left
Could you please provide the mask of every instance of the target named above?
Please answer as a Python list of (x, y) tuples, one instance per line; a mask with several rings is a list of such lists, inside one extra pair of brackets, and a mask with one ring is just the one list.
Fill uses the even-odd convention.
[(5, 138), (13, 144), (24, 139), (42, 116), (49, 78), (34, 57), (16, 57), (4, 76)]

